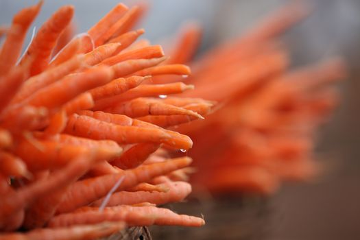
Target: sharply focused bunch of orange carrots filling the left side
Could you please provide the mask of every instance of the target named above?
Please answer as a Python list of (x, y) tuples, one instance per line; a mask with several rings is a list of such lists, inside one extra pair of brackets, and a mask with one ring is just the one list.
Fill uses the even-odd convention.
[(193, 86), (153, 78), (189, 75), (189, 67), (137, 40), (144, 30), (132, 27), (145, 7), (121, 3), (73, 38), (74, 9), (63, 6), (21, 56), (42, 4), (1, 29), (0, 239), (95, 239), (125, 226), (202, 226), (200, 217), (157, 206), (191, 192), (184, 181), (191, 158), (169, 158), (160, 147), (187, 151), (193, 142), (162, 127), (202, 119), (213, 103), (163, 98)]

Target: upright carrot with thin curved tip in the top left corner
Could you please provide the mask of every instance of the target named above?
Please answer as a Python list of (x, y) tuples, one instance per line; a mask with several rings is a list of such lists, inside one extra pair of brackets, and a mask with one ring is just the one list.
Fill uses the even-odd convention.
[(43, 1), (39, 1), (38, 4), (29, 8), (24, 8), (12, 19), (12, 25), (0, 50), (0, 75), (8, 73), (16, 64), (27, 29), (38, 15), (41, 5), (43, 5)]

